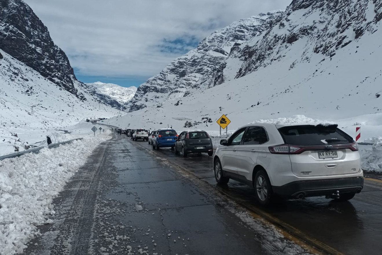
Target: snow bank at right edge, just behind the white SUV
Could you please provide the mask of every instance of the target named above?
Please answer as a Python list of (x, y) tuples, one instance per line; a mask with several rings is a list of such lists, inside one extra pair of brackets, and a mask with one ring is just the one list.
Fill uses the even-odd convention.
[(371, 149), (361, 154), (361, 167), (364, 170), (382, 172), (382, 137), (365, 139), (365, 143), (373, 143)]

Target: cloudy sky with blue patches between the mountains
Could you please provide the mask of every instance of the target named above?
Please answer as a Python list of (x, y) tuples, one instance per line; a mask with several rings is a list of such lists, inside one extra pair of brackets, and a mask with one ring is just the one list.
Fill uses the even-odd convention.
[(291, 0), (24, 0), (77, 78), (139, 86), (237, 19), (285, 10)]

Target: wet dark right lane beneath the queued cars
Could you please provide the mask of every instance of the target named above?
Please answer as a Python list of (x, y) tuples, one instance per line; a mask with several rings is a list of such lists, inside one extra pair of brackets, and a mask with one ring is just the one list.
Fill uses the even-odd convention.
[[(152, 149), (147, 142), (136, 142)], [(287, 200), (263, 208), (255, 202), (253, 188), (230, 180), (227, 186), (217, 185), (212, 157), (207, 154), (176, 156), (170, 149), (155, 151), (212, 187), (221, 190), (248, 208), (262, 210), (277, 221), (291, 226), (303, 235), (316, 239), (334, 249), (333, 253), (348, 255), (380, 255), (382, 252), (382, 181), (366, 178), (364, 190), (352, 200), (335, 202), (324, 197)], [(367, 176), (367, 175), (366, 175)], [(336, 252), (337, 250), (337, 252)]]

